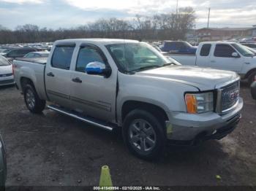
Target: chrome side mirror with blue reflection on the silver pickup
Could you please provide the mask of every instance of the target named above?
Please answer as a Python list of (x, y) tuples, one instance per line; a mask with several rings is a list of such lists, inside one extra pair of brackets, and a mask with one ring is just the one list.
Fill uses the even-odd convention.
[(111, 69), (107, 68), (105, 63), (95, 61), (87, 64), (86, 73), (90, 75), (103, 75), (105, 77), (110, 77)]

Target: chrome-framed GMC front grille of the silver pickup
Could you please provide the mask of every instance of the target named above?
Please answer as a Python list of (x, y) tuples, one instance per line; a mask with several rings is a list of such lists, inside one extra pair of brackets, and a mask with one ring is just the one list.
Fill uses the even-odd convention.
[(227, 111), (238, 102), (239, 89), (239, 81), (222, 88), (222, 112)]

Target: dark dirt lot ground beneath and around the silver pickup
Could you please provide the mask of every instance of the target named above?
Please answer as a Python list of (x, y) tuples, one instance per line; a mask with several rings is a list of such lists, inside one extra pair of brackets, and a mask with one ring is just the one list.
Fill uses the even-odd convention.
[(256, 101), (246, 85), (241, 95), (243, 118), (225, 139), (169, 147), (161, 160), (150, 163), (130, 155), (120, 133), (49, 110), (31, 114), (15, 87), (1, 88), (7, 186), (96, 186), (102, 165), (110, 166), (114, 185), (256, 185)]

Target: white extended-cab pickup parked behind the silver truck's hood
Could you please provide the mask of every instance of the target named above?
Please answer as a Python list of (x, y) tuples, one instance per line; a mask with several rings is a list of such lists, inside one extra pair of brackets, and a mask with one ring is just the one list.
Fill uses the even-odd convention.
[(182, 65), (236, 71), (251, 84), (256, 76), (256, 57), (236, 42), (201, 42), (196, 55), (170, 55)]

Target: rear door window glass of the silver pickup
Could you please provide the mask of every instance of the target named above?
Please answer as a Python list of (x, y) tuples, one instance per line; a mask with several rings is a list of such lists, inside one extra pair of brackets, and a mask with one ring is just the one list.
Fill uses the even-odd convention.
[(74, 49), (74, 46), (57, 46), (53, 52), (51, 66), (57, 69), (69, 70)]

